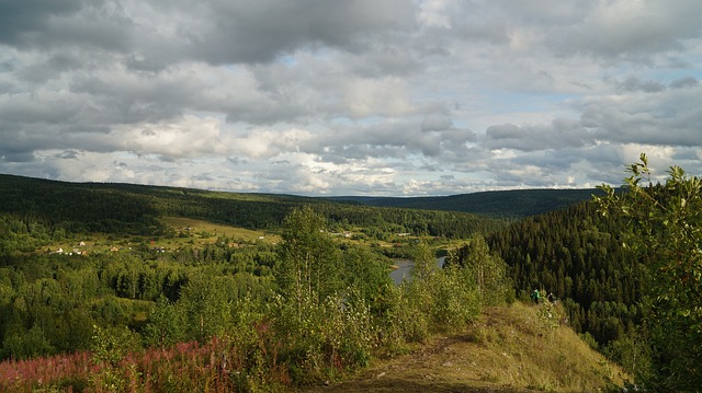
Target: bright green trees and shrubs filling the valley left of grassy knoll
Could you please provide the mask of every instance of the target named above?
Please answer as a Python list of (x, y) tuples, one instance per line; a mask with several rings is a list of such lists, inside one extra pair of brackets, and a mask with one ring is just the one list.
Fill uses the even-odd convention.
[[(24, 221), (2, 222), (5, 234), (27, 230)], [(484, 302), (472, 270), (440, 270), (433, 252), (418, 243), (408, 251), (412, 280), (396, 286), (386, 256), (335, 242), (325, 222), (309, 208), (294, 209), (280, 245), (217, 239), (172, 253), (141, 243), (87, 255), (5, 245), (0, 356), (16, 361), (90, 350), (97, 366), (78, 367), (92, 370), (89, 375), (52, 382), (72, 391), (132, 384), (186, 391), (203, 378), (215, 390), (250, 391), (335, 378), (372, 354), (403, 350), (405, 343), (477, 317)], [(506, 288), (495, 289), (503, 290), (501, 301), (509, 298)], [(203, 355), (200, 348), (208, 349)], [(162, 354), (171, 355), (154, 360)], [(12, 372), (1, 389), (37, 388)]]

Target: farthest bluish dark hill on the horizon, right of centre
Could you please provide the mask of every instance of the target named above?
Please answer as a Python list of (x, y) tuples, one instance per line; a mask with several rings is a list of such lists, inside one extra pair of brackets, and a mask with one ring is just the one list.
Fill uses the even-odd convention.
[(453, 210), (476, 215), (520, 219), (558, 210), (601, 195), (596, 188), (585, 189), (512, 189), (461, 194), (443, 197), (333, 197), (367, 206), (401, 207), (429, 210)]

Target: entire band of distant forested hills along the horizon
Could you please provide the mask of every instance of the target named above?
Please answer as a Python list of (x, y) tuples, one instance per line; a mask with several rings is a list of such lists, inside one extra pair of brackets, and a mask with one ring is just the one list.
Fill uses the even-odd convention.
[[(287, 211), (301, 205), (315, 205), (330, 213), (360, 205), (521, 219), (563, 209), (589, 200), (593, 194), (600, 193), (596, 188), (586, 188), (514, 189), (406, 198), (302, 197), (121, 183), (69, 183), (0, 174), (0, 211), (32, 211), (35, 215), (53, 217), (58, 215), (68, 221), (113, 219), (135, 222), (143, 221), (144, 217), (148, 220), (148, 217), (171, 215), (210, 219), (247, 228), (278, 227)], [(356, 215), (358, 212), (354, 213)]]

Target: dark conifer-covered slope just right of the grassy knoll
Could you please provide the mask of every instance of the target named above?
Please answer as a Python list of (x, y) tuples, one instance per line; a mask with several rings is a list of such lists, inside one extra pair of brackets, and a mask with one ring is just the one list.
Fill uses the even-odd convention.
[[(593, 203), (526, 218), (488, 238), (510, 266), (519, 297), (533, 289), (562, 299), (569, 324), (621, 360), (641, 325), (647, 261), (621, 246), (624, 222), (603, 217)], [(626, 348), (630, 349), (630, 348)], [(629, 352), (627, 352), (629, 354)]]

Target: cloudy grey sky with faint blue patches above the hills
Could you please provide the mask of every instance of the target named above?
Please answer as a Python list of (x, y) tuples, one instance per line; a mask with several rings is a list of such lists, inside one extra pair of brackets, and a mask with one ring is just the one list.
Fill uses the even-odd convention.
[(0, 0), (0, 173), (309, 196), (702, 174), (699, 0)]

